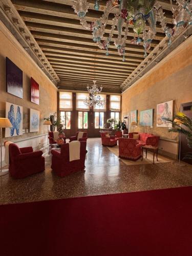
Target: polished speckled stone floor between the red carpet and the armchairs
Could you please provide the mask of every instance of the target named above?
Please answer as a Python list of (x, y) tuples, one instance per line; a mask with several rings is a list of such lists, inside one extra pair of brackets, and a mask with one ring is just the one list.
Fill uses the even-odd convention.
[(86, 171), (60, 178), (46, 158), (43, 173), (15, 180), (0, 177), (0, 204), (69, 197), (94, 196), (192, 185), (192, 165), (177, 163), (125, 165), (101, 146), (100, 138), (88, 139)]

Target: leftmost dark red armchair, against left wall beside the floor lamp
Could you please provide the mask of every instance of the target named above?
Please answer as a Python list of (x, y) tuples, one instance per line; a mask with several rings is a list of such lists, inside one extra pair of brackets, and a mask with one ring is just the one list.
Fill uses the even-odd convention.
[[(6, 142), (5, 142), (6, 143)], [(33, 152), (33, 148), (9, 144), (9, 173), (16, 179), (25, 178), (45, 170), (45, 158), (42, 151)]]

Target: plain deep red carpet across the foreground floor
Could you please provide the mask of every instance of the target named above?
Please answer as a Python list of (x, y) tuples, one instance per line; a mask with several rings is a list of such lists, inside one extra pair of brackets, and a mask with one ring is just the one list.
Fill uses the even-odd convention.
[(192, 187), (0, 206), (1, 256), (191, 256)]

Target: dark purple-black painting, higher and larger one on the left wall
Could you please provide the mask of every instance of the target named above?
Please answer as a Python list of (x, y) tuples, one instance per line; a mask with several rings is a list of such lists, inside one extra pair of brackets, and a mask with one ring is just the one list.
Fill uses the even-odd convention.
[(6, 57), (7, 92), (23, 99), (23, 71)]

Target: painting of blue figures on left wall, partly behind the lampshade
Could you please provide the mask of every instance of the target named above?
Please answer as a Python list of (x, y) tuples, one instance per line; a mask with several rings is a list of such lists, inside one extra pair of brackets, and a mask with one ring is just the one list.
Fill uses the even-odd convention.
[(5, 137), (18, 136), (23, 134), (23, 106), (6, 102), (6, 118), (12, 124), (11, 128), (5, 129)]

